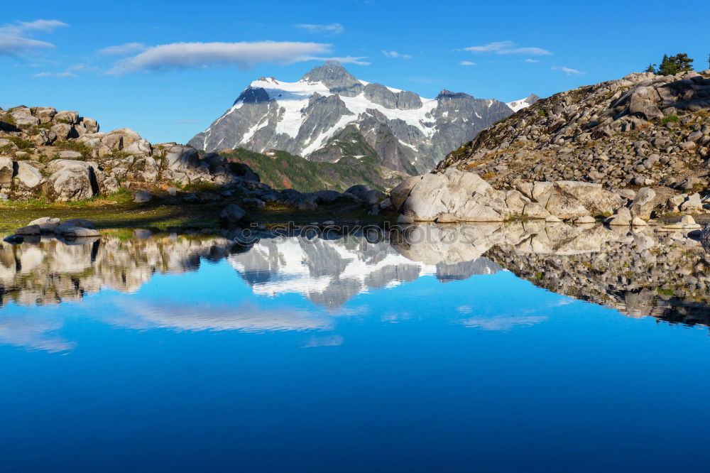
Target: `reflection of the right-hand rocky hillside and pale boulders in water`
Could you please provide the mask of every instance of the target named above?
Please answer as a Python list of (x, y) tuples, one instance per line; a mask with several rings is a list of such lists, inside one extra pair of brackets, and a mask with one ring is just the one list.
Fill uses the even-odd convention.
[(484, 257), (535, 286), (630, 317), (710, 324), (710, 255), (693, 234), (520, 222), (415, 225), (403, 237), (394, 246), (414, 261)]

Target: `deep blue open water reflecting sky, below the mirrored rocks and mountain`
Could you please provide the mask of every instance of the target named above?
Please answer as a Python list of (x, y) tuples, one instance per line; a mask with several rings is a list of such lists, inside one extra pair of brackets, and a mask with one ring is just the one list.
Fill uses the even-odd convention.
[[(395, 281), (396, 282), (396, 281)], [(337, 307), (222, 259), (0, 308), (8, 472), (706, 471), (706, 328), (508, 271)]]

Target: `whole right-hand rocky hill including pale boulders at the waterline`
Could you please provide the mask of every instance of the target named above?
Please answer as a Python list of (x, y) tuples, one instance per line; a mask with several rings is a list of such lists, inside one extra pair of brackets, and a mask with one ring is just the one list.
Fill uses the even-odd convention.
[(405, 221), (643, 225), (705, 212), (709, 161), (710, 70), (637, 73), (533, 102), (392, 201)]

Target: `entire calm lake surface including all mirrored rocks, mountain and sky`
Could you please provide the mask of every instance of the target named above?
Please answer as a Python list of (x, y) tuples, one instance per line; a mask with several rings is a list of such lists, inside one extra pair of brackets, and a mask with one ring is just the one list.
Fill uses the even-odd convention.
[(3, 471), (708, 469), (697, 241), (423, 234), (2, 244)]

